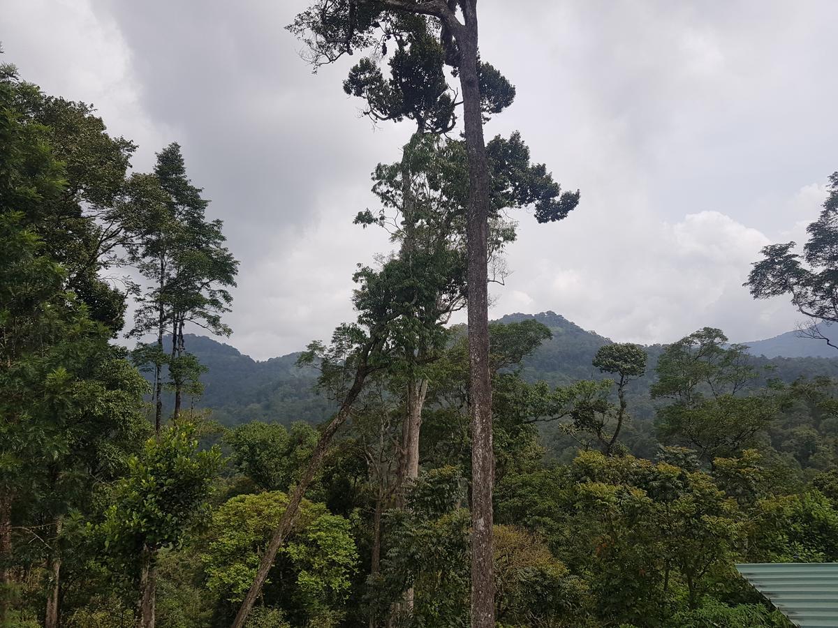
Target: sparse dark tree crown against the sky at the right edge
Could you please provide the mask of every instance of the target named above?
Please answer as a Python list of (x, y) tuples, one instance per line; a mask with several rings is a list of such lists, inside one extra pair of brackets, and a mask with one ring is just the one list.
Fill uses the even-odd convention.
[(809, 240), (803, 254), (796, 252), (794, 242), (764, 247), (763, 259), (753, 263), (743, 286), (755, 299), (790, 296), (792, 305), (809, 319), (800, 332), (838, 348), (820, 327), (838, 322), (838, 172), (829, 180), (823, 210), (806, 228)]

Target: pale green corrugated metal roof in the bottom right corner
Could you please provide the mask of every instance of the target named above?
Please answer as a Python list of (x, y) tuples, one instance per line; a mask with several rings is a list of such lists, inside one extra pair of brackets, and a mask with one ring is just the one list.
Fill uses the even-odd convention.
[(838, 563), (737, 564), (736, 568), (800, 628), (838, 628)]

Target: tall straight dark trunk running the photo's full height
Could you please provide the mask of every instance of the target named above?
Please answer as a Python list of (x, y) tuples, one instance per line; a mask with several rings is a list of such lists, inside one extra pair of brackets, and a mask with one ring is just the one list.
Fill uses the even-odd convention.
[(473, 628), (494, 628), (492, 538), (492, 387), (489, 377), (489, 163), (483, 135), (478, 80), (477, 0), (463, 0), (464, 28), (457, 36), (463, 122), (468, 155), (468, 375), (472, 425)]

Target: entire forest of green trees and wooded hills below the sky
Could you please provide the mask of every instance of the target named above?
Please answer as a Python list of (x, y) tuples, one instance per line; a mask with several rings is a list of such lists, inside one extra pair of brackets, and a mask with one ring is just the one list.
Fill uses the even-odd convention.
[[(836, 363), (489, 322), (515, 211), (584, 195), (484, 141), (515, 87), (475, 7), (289, 27), (315, 66), (358, 53), (345, 92), (413, 132), (347, 208), (392, 244), (346, 278), (357, 318), (267, 363), (201, 337), (232, 332), (239, 268), (178, 144), (132, 172), (91, 106), (0, 66), (0, 625), (790, 626), (734, 564), (838, 561)], [(838, 321), (827, 190), (747, 281), (810, 342)]]

